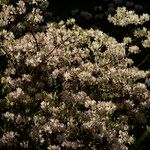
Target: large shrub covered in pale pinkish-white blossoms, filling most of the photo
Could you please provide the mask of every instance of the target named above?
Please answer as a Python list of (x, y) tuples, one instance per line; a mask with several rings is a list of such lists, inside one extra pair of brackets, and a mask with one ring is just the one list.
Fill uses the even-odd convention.
[[(15, 38), (4, 26), (17, 10), (25, 13), (24, 2), (4, 5), (0, 14), (0, 50), (8, 58), (1, 78), (0, 148), (128, 149), (136, 126), (149, 123), (150, 107), (149, 91), (137, 82), (146, 74), (126, 56), (130, 39), (119, 43), (100, 30), (83, 30), (74, 19)], [(42, 17), (39, 9), (33, 12), (26, 17), (34, 24)]]

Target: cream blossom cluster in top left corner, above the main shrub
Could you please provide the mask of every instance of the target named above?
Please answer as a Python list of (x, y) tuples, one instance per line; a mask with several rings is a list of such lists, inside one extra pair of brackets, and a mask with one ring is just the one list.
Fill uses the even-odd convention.
[(8, 29), (21, 37), (26, 31), (34, 32), (43, 28), (39, 23), (43, 21), (42, 11), (49, 5), (47, 0), (17, 0), (14, 3), (10, 1), (0, 5), (1, 29)]

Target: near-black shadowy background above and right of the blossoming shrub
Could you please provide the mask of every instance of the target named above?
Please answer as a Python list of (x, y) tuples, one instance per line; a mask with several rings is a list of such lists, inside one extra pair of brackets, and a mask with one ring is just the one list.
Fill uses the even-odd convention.
[[(114, 26), (108, 22), (108, 15), (114, 14), (117, 7), (123, 6), (128, 10), (135, 10), (139, 15), (150, 10), (149, 0), (49, 0), (49, 2), (50, 5), (44, 13), (46, 20), (59, 22), (73, 17), (80, 27), (100, 29), (115, 37), (119, 42), (125, 36), (132, 37), (133, 34), (130, 31), (136, 26), (134, 24), (125, 27)], [(138, 26), (142, 28), (142, 25)], [(144, 26), (149, 29), (149, 22), (146, 22)], [(140, 49), (142, 49), (140, 53), (128, 57), (134, 60), (134, 65), (139, 69), (150, 69), (150, 51), (143, 47)]]

